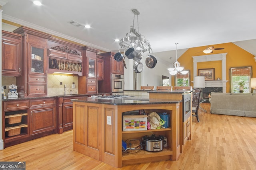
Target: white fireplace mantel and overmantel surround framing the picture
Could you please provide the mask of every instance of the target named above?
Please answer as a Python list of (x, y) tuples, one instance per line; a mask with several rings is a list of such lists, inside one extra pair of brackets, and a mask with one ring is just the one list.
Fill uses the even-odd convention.
[(205, 81), (205, 86), (206, 87), (222, 87), (222, 91), (226, 93), (226, 82), (228, 82), (226, 80), (226, 55), (227, 54), (228, 53), (192, 56), (193, 62), (194, 62), (193, 64), (194, 77), (197, 74), (197, 63), (206, 62), (206, 61), (222, 61), (222, 80)]

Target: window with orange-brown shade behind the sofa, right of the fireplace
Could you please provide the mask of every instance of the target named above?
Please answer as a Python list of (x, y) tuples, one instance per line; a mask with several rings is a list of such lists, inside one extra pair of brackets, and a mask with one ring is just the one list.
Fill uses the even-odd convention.
[(231, 67), (230, 70), (231, 92), (239, 92), (239, 82), (244, 81), (244, 93), (250, 93), (250, 80), (252, 77), (252, 66)]

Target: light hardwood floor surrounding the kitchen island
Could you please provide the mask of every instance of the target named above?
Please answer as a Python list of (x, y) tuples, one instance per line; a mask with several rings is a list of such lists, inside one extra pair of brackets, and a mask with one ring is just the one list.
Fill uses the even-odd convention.
[(177, 161), (114, 168), (73, 151), (72, 131), (53, 134), (0, 150), (0, 161), (26, 161), (26, 170), (256, 170), (256, 118), (199, 111), (192, 140)]

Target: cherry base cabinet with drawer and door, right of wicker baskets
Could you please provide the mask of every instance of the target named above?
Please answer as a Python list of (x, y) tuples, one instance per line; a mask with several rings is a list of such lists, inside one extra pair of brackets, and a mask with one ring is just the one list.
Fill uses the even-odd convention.
[(56, 132), (56, 99), (30, 100), (30, 135)]

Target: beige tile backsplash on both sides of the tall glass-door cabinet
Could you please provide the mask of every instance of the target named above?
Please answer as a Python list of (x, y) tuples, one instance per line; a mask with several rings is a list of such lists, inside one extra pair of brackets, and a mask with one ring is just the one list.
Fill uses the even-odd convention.
[[(62, 85), (60, 85), (60, 82), (62, 82)], [(75, 88), (72, 88), (73, 82), (76, 86)], [(4, 92), (6, 94), (8, 94), (8, 88), (11, 84), (16, 84), (15, 77), (2, 76), (2, 86), (6, 86), (6, 89), (4, 89)], [(64, 84), (66, 84), (66, 94), (70, 94), (70, 90), (72, 91), (72, 94), (78, 94), (78, 76), (66, 76), (55, 74), (47, 75), (47, 94), (64, 94)]]

